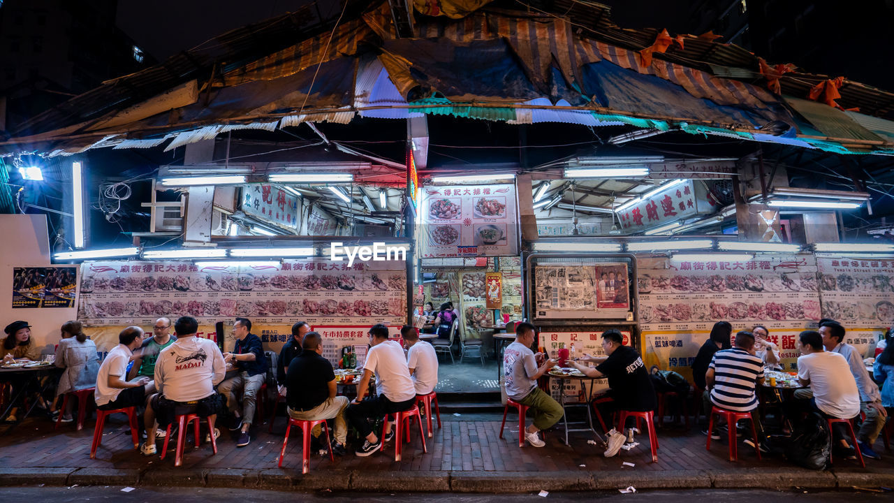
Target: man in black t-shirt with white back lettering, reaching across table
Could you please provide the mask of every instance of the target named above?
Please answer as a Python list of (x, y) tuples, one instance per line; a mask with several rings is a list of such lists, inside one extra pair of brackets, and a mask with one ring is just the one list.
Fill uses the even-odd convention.
[[(571, 364), (593, 378), (607, 377), (609, 379), (609, 396), (614, 399), (613, 405), (617, 410), (645, 412), (654, 410), (655, 390), (652, 387), (652, 379), (645, 370), (645, 363), (637, 351), (632, 347), (623, 345), (624, 337), (615, 329), (603, 332), (603, 350), (606, 356), (593, 357), (584, 355), (581, 360), (596, 363), (596, 368), (591, 369), (578, 362)], [(628, 418), (635, 421), (635, 418)], [(621, 424), (621, 431), (625, 425)], [(605, 450), (605, 457), (618, 454), (625, 440), (633, 442), (633, 428), (628, 430), (625, 437), (614, 429), (608, 433), (609, 447)]]

